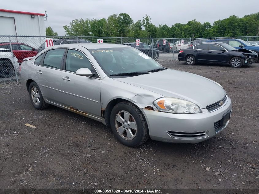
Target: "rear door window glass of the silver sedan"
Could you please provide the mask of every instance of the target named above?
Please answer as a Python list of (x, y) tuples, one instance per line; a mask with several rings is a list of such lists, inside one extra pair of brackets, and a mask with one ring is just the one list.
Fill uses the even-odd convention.
[(60, 69), (65, 49), (53, 49), (47, 52), (43, 66)]

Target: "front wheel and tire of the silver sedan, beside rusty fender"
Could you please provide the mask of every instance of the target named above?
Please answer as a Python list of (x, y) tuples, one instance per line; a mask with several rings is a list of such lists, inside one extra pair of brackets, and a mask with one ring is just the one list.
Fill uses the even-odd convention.
[(145, 117), (139, 108), (130, 102), (120, 102), (112, 108), (110, 124), (115, 137), (126, 146), (139, 146), (149, 138)]

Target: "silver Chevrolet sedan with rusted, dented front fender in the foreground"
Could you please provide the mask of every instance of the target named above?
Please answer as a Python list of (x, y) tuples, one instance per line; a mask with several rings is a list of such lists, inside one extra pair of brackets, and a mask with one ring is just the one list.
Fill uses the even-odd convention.
[(230, 119), (231, 100), (221, 85), (162, 67), (126, 45), (57, 45), (20, 69), (35, 108), (51, 104), (100, 121), (127, 146), (149, 137), (201, 142), (226, 128)]

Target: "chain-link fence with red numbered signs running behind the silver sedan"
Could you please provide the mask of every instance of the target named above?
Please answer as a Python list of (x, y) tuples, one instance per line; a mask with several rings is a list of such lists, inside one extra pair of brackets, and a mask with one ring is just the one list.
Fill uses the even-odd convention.
[[(19, 80), (19, 66), (24, 60), (32, 59), (45, 48), (46, 38), (53, 44), (72, 43), (110, 43), (126, 44), (139, 49), (153, 59), (160, 61), (175, 60), (181, 49), (189, 48), (195, 40), (242, 39), (259, 46), (259, 36), (211, 37), (197, 39), (182, 38), (128, 38), (94, 36), (0, 36), (0, 82)], [(28, 59), (26, 59), (28, 58)]]

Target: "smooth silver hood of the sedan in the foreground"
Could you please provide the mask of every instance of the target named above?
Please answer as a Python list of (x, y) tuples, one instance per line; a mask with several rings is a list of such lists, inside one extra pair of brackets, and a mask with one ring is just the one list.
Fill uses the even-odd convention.
[(218, 83), (208, 78), (172, 69), (113, 79), (150, 90), (165, 97), (185, 99), (194, 102), (200, 108), (206, 108), (206, 106), (220, 101), (226, 95), (225, 90)]

